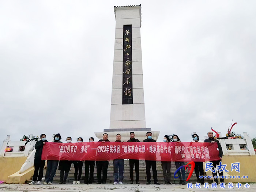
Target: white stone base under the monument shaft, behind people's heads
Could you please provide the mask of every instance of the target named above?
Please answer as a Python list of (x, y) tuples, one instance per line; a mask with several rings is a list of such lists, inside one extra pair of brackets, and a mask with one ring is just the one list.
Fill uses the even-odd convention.
[[(137, 128), (137, 129), (104, 129), (104, 132), (94, 132), (98, 139), (102, 139), (103, 133), (108, 133), (108, 139), (111, 142), (116, 141), (116, 135), (119, 133), (121, 135), (121, 140), (127, 142), (130, 139), (130, 132), (133, 131), (135, 133), (135, 138), (139, 139), (140, 142), (143, 142), (144, 139), (147, 139), (146, 133), (151, 131), (151, 128)], [(160, 131), (151, 131), (152, 139), (157, 140)], [(95, 139), (95, 141), (97, 141)]]

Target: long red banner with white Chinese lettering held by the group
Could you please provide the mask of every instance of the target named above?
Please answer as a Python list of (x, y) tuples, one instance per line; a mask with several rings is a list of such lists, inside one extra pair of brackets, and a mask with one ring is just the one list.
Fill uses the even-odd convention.
[(45, 143), (42, 159), (106, 161), (140, 159), (153, 161), (217, 161), (217, 143), (195, 142), (84, 142)]

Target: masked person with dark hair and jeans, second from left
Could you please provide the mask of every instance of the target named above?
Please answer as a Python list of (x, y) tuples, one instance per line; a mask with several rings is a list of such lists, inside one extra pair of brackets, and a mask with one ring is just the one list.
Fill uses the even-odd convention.
[[(62, 143), (60, 133), (57, 133), (53, 137), (53, 143)], [(45, 182), (43, 184), (51, 185), (53, 181), (53, 177), (56, 173), (59, 161), (58, 160), (48, 160), (47, 161), (47, 169), (45, 174)]]

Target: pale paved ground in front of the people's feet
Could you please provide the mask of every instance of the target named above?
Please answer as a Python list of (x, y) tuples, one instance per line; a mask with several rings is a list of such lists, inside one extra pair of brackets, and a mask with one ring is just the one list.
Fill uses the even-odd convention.
[(200, 191), (200, 192), (209, 192), (209, 191), (242, 191), (242, 192), (255, 192), (256, 191), (256, 184), (249, 184), (249, 188), (245, 188), (244, 184), (242, 184), (242, 187), (238, 189), (236, 185), (234, 184), (234, 187), (232, 189), (229, 189), (227, 186), (225, 189), (220, 189), (219, 185), (217, 189), (211, 189), (211, 186), (209, 189), (196, 189), (195, 184), (193, 185), (193, 189), (188, 189), (187, 185), (146, 185), (146, 184), (140, 184), (140, 185), (130, 185), (130, 184), (123, 184), (123, 185), (113, 185), (113, 184), (106, 184), (106, 185), (72, 185), (72, 184), (66, 184), (66, 185), (29, 185), (29, 184), (0, 184), (0, 191), (2, 192), (10, 192), (10, 191), (19, 191), (19, 192), (37, 192), (37, 191), (43, 191), (43, 192), (155, 192), (155, 191), (162, 191), (162, 192), (170, 192), (170, 191), (177, 191), (177, 192), (193, 192), (193, 191)]

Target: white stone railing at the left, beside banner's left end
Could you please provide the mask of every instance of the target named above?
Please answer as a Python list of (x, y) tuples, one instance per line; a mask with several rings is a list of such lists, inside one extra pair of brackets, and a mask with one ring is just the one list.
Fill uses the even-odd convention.
[[(33, 135), (30, 135), (30, 139), (32, 139)], [(7, 135), (7, 138), (3, 142), (3, 146), (1, 148), (0, 157), (28, 157), (31, 151), (34, 150), (34, 146), (36, 141), (30, 141), (26, 144), (26, 141), (11, 141), (10, 135)], [(20, 147), (25, 146), (24, 151), (20, 151)], [(12, 152), (5, 152), (4, 149), (6, 147), (13, 147)]]

